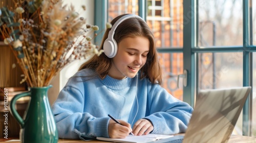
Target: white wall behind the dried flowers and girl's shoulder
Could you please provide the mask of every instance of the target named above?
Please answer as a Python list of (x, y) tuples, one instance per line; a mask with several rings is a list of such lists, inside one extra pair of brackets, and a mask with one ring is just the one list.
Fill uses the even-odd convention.
[[(84, 0), (62, 0), (64, 4), (73, 5), (76, 11), (81, 17), (84, 17), (88, 24), (94, 25), (94, 0), (84, 1)], [(86, 6), (86, 11), (83, 11), (82, 5)], [(78, 70), (79, 66), (84, 61), (74, 61), (71, 64), (64, 67), (60, 73), (52, 80), (52, 88), (49, 89), (48, 97), (50, 105), (56, 100), (59, 91), (65, 86), (68, 79), (73, 76)]]

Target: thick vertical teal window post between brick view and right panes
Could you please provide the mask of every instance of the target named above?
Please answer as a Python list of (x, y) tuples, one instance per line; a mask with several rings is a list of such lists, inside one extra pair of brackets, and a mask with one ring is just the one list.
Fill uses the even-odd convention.
[(183, 3), (183, 69), (187, 70), (187, 86), (183, 87), (183, 101), (194, 107), (195, 105), (195, 19), (196, 0)]

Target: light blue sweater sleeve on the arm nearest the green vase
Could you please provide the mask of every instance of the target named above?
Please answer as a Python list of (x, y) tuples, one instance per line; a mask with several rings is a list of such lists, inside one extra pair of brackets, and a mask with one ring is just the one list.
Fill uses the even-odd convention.
[[(80, 88), (79, 88), (80, 89)], [(93, 139), (96, 136), (109, 137), (108, 117), (94, 117), (83, 112), (84, 95), (81, 89), (67, 85), (52, 106), (60, 138)]]

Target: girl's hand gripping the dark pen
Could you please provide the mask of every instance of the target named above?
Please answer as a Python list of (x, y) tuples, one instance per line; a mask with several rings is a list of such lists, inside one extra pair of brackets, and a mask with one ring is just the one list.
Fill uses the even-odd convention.
[(109, 122), (109, 136), (110, 138), (125, 138), (127, 135), (129, 135), (130, 132), (132, 132), (131, 125), (127, 122), (124, 122), (122, 120), (118, 120), (122, 125), (116, 123), (114, 120), (110, 120)]

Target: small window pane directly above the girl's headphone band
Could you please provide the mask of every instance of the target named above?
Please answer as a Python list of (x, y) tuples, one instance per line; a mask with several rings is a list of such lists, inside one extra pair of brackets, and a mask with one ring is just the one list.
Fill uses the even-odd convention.
[(111, 21), (118, 15), (125, 13), (132, 13), (138, 15), (138, 0), (109, 0), (108, 6), (108, 21)]

